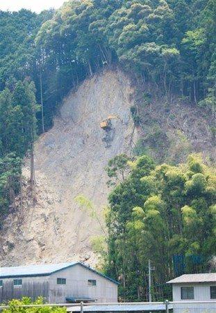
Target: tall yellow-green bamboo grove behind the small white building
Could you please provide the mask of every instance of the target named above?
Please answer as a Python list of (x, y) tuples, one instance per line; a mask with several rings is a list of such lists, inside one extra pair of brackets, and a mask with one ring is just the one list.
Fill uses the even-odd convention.
[(179, 166), (155, 166), (145, 156), (129, 164), (130, 175), (109, 195), (106, 271), (121, 278), (124, 300), (144, 300), (148, 259), (154, 284), (161, 285), (175, 275), (174, 255), (188, 258), (189, 272), (197, 271), (194, 255), (206, 267), (215, 255), (216, 175), (197, 154)]

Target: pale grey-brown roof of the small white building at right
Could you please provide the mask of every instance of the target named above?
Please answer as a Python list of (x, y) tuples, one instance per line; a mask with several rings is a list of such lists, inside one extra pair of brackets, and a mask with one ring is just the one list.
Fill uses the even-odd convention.
[(216, 282), (216, 273), (184, 274), (174, 280), (169, 280), (167, 284), (178, 284), (183, 282)]

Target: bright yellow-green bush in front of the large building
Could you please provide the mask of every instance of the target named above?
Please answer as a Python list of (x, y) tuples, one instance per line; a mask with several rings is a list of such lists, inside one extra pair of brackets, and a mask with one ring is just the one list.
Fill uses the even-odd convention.
[[(22, 300), (10, 300), (8, 309), (3, 309), (3, 313), (66, 313), (66, 307), (34, 307), (34, 305), (43, 305), (44, 301), (42, 297), (39, 297), (35, 301), (31, 298), (24, 297)], [(32, 305), (31, 307), (23, 307), (23, 305)]]

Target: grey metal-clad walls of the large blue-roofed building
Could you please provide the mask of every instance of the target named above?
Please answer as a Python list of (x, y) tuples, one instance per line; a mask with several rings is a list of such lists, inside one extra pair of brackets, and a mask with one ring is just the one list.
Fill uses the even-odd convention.
[[(67, 284), (57, 284), (57, 278), (66, 278)], [(88, 286), (89, 279), (97, 280), (97, 286)], [(22, 278), (20, 287), (13, 286), (13, 278), (3, 278), (0, 303), (22, 296), (33, 299), (42, 296), (49, 303), (65, 303), (68, 296), (96, 298), (101, 303), (117, 302), (117, 284), (79, 264), (49, 276)]]

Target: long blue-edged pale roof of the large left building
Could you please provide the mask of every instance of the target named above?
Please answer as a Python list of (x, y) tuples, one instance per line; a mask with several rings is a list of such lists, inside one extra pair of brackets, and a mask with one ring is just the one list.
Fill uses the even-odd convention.
[(22, 277), (32, 277), (32, 276), (47, 276), (58, 271), (63, 270), (64, 268), (69, 268), (74, 265), (81, 265), (85, 268), (88, 268), (90, 271), (97, 273), (114, 282), (119, 284), (119, 282), (109, 278), (98, 271), (95, 271), (90, 266), (87, 266), (81, 262), (70, 262), (70, 263), (59, 263), (59, 264), (36, 264), (36, 265), (26, 265), (26, 266), (11, 266), (11, 267), (1, 267), (0, 268), (0, 278), (22, 278)]

